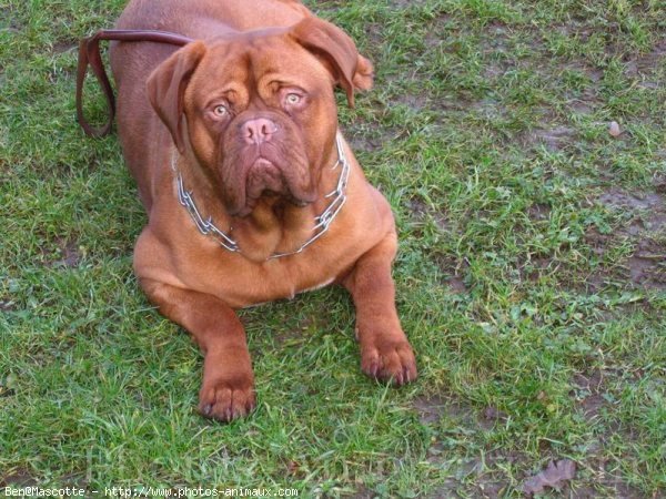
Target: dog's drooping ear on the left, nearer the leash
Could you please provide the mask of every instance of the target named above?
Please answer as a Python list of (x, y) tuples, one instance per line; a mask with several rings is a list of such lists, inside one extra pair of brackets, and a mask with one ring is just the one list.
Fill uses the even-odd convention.
[(205, 53), (201, 41), (188, 43), (158, 65), (148, 79), (150, 103), (164, 122), (178, 150), (184, 151), (183, 96), (192, 73)]

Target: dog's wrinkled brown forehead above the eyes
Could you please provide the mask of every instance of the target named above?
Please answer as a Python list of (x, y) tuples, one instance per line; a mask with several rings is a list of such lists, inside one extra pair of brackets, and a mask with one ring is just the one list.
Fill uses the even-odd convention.
[(275, 83), (316, 91), (332, 84), (330, 72), (319, 59), (284, 30), (220, 38), (206, 48), (190, 83), (196, 89), (196, 101), (205, 100), (206, 91), (261, 93)]

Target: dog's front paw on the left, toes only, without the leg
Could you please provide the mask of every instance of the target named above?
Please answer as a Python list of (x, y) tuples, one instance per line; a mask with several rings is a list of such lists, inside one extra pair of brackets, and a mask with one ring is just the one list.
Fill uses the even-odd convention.
[(252, 375), (204, 376), (199, 411), (206, 418), (229, 422), (248, 416), (256, 405)]

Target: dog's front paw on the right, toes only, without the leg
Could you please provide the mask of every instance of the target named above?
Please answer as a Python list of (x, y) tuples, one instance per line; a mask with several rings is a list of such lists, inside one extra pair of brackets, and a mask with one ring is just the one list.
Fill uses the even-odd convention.
[(367, 376), (390, 381), (395, 386), (416, 379), (416, 359), (406, 339), (377, 338), (363, 343), (361, 369)]

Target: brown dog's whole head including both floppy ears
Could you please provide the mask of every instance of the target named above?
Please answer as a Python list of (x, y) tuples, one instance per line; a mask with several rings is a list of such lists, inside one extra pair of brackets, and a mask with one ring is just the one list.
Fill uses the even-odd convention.
[(266, 194), (296, 205), (316, 198), (337, 126), (335, 84), (353, 102), (354, 89), (372, 85), (372, 65), (343, 31), (306, 18), (190, 43), (155, 69), (148, 94), (230, 214), (245, 216)]

